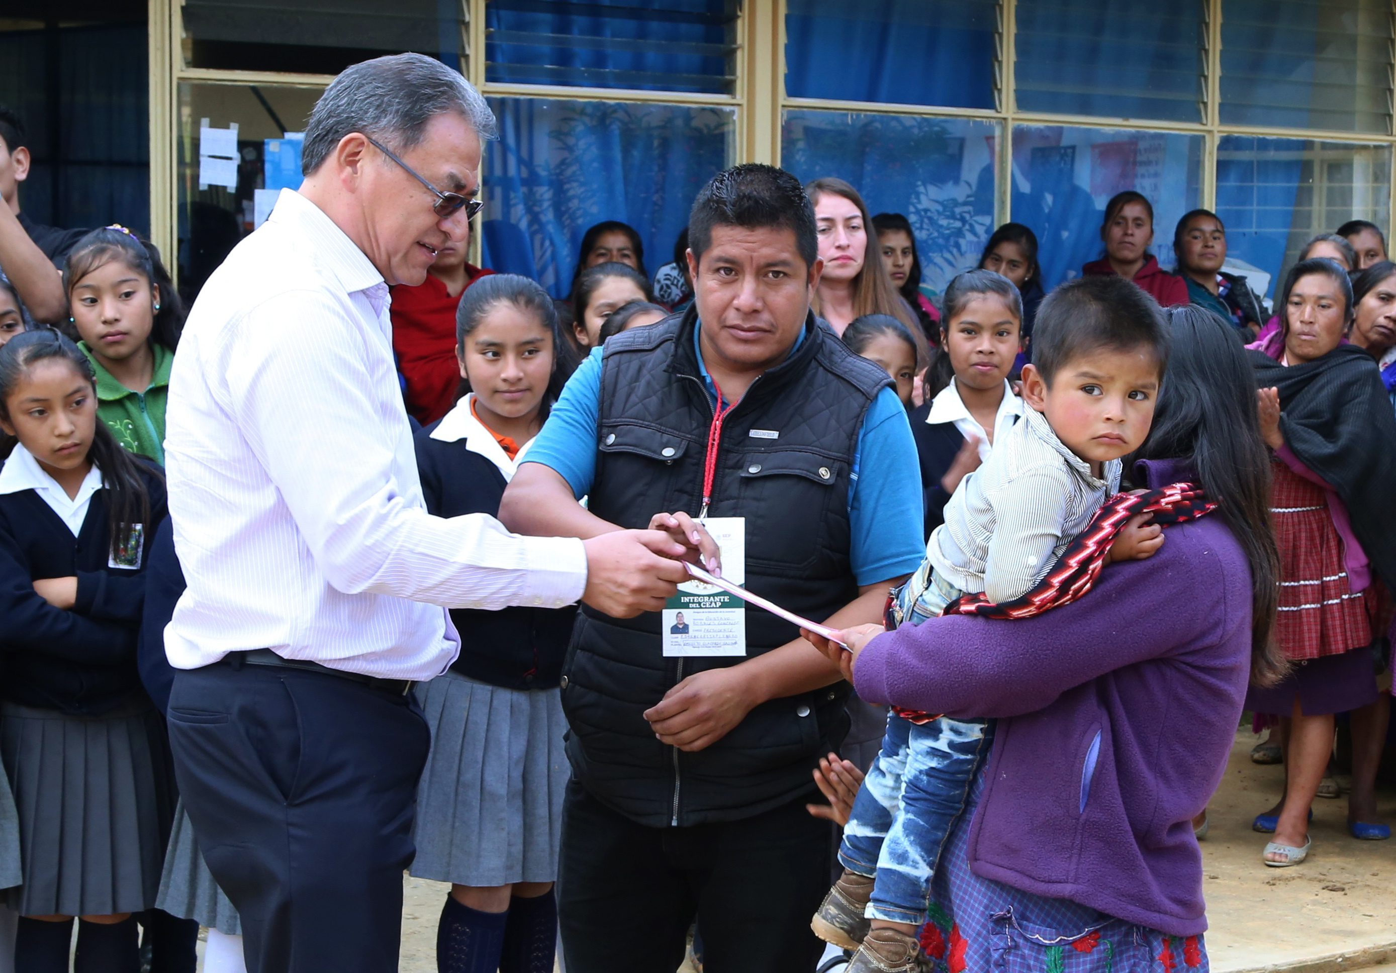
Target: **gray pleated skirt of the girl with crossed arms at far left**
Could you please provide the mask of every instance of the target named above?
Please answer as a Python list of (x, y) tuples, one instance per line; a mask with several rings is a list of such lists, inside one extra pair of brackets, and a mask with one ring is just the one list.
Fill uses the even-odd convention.
[(24, 867), (11, 909), (110, 916), (155, 905), (169, 780), (161, 720), (144, 698), (101, 716), (0, 702)]

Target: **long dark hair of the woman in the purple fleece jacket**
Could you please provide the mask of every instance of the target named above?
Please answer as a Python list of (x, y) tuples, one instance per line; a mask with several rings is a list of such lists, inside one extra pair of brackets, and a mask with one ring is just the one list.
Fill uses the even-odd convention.
[(1273, 638), (1280, 556), (1255, 377), (1222, 318), (1196, 304), (1166, 307), (1163, 314), (1173, 331), (1168, 371), (1149, 437), (1132, 459), (1187, 459), (1216, 501), (1251, 565), (1251, 681), (1270, 685), (1287, 663)]

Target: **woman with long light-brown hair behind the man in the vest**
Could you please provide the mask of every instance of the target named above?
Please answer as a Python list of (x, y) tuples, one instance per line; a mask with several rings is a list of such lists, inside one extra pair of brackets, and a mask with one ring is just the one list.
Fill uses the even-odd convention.
[(804, 187), (814, 205), (824, 274), (810, 306), (838, 334), (864, 314), (891, 314), (917, 341), (917, 366), (930, 360), (916, 311), (902, 299), (882, 265), (878, 246), (868, 246), (872, 219), (859, 191), (842, 179), (815, 179)]

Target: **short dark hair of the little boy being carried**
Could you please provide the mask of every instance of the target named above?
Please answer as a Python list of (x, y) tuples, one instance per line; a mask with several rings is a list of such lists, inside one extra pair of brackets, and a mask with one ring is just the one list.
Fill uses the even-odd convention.
[(1076, 278), (1047, 295), (1037, 309), (1033, 364), (1047, 384), (1082, 355), (1136, 348), (1148, 348), (1163, 374), (1168, 364), (1163, 309), (1134, 281), (1114, 274)]

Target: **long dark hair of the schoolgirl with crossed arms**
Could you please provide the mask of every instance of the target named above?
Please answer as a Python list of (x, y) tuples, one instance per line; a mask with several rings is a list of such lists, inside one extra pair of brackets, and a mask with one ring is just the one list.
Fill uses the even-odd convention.
[[(11, 426), (14, 420), (10, 417), (10, 396), (29, 374), (29, 369), (45, 359), (61, 359), (71, 364), (92, 387), (92, 398), (96, 399), (96, 374), (92, 371), (92, 363), (77, 345), (52, 328), (25, 331), (0, 348), (0, 416), (4, 416), (4, 420)], [(101, 419), (94, 424), (88, 456), (102, 470), (107, 519), (112, 522), (112, 550), (119, 551), (126, 547), (131, 537), (131, 528), (137, 523), (145, 525), (147, 536), (151, 536), (154, 533), (151, 494), (145, 487), (142, 466), (131, 454), (117, 445), (112, 430)], [(158, 476), (149, 468), (145, 470), (151, 476)]]

